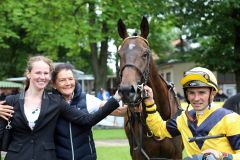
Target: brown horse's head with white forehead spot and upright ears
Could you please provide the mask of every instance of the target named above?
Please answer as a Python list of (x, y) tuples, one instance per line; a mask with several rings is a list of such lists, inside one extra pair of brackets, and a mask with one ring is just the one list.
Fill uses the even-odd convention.
[(147, 36), (148, 21), (143, 17), (140, 36), (129, 36), (123, 21), (118, 21), (118, 33), (123, 39), (120, 56), (120, 86), (119, 93), (124, 103), (135, 104), (141, 101), (141, 89), (138, 86), (147, 83), (150, 64), (150, 49)]

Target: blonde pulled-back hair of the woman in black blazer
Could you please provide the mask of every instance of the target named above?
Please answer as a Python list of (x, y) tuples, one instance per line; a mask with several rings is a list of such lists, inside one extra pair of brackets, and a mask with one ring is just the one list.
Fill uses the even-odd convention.
[(30, 84), (30, 80), (27, 77), (27, 73), (31, 72), (32, 68), (33, 68), (33, 63), (34, 62), (38, 62), (38, 61), (43, 61), (45, 63), (47, 63), (49, 65), (50, 68), (50, 73), (53, 72), (54, 70), (54, 65), (53, 65), (53, 61), (45, 56), (42, 55), (37, 55), (37, 56), (33, 56), (33, 57), (29, 57), (28, 61), (27, 61), (27, 66), (25, 69), (25, 74), (24, 76), (26, 77), (25, 80), (25, 91), (28, 89), (29, 84)]

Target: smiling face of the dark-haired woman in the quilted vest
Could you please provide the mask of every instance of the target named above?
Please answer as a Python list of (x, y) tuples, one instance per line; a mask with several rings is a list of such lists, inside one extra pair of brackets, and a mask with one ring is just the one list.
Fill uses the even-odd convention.
[(71, 70), (63, 69), (56, 75), (56, 80), (53, 83), (56, 88), (66, 100), (72, 97), (75, 88), (75, 79)]

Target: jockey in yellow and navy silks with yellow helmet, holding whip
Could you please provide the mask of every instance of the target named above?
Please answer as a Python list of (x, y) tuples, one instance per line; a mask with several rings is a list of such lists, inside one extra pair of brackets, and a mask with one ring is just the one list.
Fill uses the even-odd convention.
[[(152, 89), (145, 86), (147, 125), (160, 138), (181, 135), (188, 159), (208, 155), (216, 160), (240, 159), (240, 116), (230, 110), (211, 106), (218, 91), (214, 74), (202, 67), (185, 72), (181, 80), (188, 103), (187, 110), (179, 110), (164, 121), (156, 111)], [(189, 104), (192, 110), (188, 111)], [(207, 155), (207, 156), (206, 156)], [(204, 158), (205, 157), (205, 158)]]

